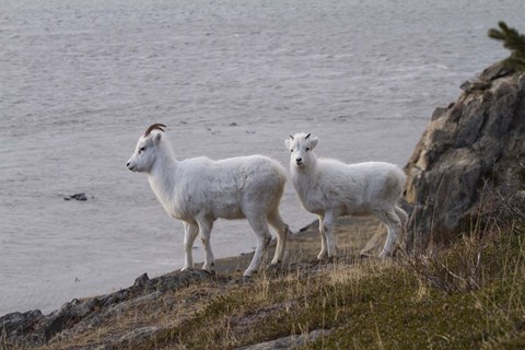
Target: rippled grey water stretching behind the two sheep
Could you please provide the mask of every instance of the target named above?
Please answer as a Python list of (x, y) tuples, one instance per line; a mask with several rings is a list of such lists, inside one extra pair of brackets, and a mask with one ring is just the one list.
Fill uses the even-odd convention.
[[(436, 106), (508, 52), (512, 0), (0, 2), (0, 315), (60, 306), (183, 264), (183, 228), (125, 163), (152, 122), (180, 158), (317, 153), (404, 165)], [(525, 28), (520, 28), (522, 32)], [(85, 202), (63, 197), (85, 191)], [(314, 219), (291, 186), (282, 214)], [(198, 245), (198, 244), (197, 244)], [(249, 252), (219, 221), (217, 257)], [(202, 260), (200, 246), (195, 259)]]

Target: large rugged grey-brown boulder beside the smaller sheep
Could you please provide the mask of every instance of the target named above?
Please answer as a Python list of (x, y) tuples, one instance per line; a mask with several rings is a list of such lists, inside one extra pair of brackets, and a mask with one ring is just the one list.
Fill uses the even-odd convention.
[(468, 232), (500, 196), (523, 187), (525, 73), (494, 66), (483, 72), (480, 89), (467, 89), (448, 108), (434, 112), (405, 166), (406, 200), (413, 208), (408, 250)]

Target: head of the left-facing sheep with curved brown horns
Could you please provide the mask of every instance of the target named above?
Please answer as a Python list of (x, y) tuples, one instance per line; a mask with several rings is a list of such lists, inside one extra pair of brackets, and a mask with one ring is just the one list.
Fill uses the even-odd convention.
[(149, 173), (156, 161), (158, 148), (162, 140), (162, 132), (166, 128), (163, 124), (153, 124), (140, 137), (133, 154), (127, 166), (131, 172)]

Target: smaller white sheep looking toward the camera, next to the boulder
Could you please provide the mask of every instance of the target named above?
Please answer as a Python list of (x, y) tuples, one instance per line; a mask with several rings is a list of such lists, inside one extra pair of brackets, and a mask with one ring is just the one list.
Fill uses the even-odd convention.
[(292, 183), (307, 211), (319, 218), (320, 253), (317, 259), (334, 257), (332, 224), (342, 215), (374, 215), (388, 229), (381, 258), (392, 253), (396, 233), (405, 229), (407, 213), (397, 202), (402, 195), (406, 175), (389, 163), (345, 164), (337, 160), (316, 159), (313, 150), (318, 139), (304, 132), (284, 141), (292, 152)]

